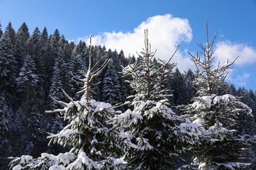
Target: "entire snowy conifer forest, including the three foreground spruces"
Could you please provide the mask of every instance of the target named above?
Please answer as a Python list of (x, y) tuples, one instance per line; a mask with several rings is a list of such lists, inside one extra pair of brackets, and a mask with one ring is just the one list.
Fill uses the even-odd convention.
[(148, 39), (125, 56), (0, 24), (0, 169), (256, 168), (256, 94), (213, 68), (214, 40), (181, 72)]

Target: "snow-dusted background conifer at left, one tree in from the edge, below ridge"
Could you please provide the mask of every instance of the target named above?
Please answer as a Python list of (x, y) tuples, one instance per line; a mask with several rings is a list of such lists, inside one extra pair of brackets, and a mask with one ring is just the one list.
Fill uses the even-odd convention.
[(38, 128), (41, 122), (41, 112), (39, 110), (39, 102), (41, 99), (37, 98), (37, 86), (39, 83), (39, 76), (36, 74), (35, 61), (30, 55), (24, 57), (23, 65), (17, 82), (17, 101), (19, 104), (16, 118), (20, 128), (20, 150), (24, 154), (33, 154), (37, 150), (37, 143), (40, 141)]

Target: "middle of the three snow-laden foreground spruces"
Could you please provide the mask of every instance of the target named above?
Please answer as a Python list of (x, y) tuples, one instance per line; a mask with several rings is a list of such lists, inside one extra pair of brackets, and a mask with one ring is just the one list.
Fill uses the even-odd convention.
[[(140, 53), (142, 56), (135, 63), (123, 67), (123, 75), (132, 77), (127, 81), (135, 91), (135, 95), (130, 96), (133, 97), (130, 105), (133, 110), (128, 109), (116, 115), (112, 124), (119, 131), (133, 137), (131, 141), (136, 147), (128, 147), (125, 154), (125, 158), (129, 159), (129, 167), (174, 169), (181, 161), (179, 154), (182, 152), (182, 144), (188, 143), (188, 140), (193, 143), (192, 137), (184, 139), (186, 135), (180, 131), (181, 126), (177, 125), (186, 125), (182, 130), (191, 136), (196, 133), (190, 131), (187, 126), (195, 127), (195, 131), (200, 130), (196, 124), (181, 118), (168, 107), (166, 97), (169, 96), (169, 90), (163, 84), (175, 66), (170, 61), (177, 49), (166, 63), (160, 59), (152, 61), (155, 52), (151, 51), (148, 43), (147, 30), (144, 42), (145, 48)], [(194, 141), (197, 143), (199, 139)]]

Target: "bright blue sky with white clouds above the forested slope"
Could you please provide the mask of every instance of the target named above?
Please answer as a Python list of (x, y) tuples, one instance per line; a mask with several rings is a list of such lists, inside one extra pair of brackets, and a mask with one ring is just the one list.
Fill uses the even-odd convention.
[(218, 36), (215, 57), (224, 63), (240, 56), (226, 80), (236, 87), (256, 90), (256, 1), (216, 0), (0, 0), (0, 22), (15, 30), (26, 22), (33, 32), (57, 28), (70, 41), (87, 41), (93, 35), (95, 44), (123, 49), (135, 54), (143, 47), (143, 29), (148, 28), (156, 58), (167, 59), (175, 46), (179, 51), (173, 62), (183, 71), (194, 69), (188, 51), (200, 51), (205, 43), (205, 21), (209, 37)]

